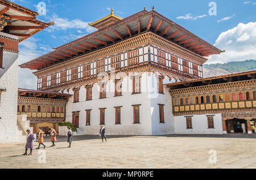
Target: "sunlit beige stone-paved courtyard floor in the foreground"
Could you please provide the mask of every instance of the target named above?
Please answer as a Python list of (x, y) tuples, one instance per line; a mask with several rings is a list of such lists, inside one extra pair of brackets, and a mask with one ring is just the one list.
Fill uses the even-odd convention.
[[(20, 156), (24, 144), (0, 144), (0, 168), (256, 168), (255, 134), (108, 136), (104, 144), (99, 136), (74, 136), (71, 149), (66, 138), (49, 148), (45, 137), (46, 164), (36, 149)], [(210, 150), (216, 164), (209, 163)]]

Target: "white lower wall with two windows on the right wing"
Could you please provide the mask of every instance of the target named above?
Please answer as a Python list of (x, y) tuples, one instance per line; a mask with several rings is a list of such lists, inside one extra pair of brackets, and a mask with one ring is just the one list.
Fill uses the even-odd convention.
[[(214, 115), (214, 129), (208, 129), (207, 115)], [(192, 127), (187, 129), (187, 121), (185, 116), (175, 116), (175, 133), (177, 134), (222, 134), (222, 118), (221, 114), (204, 114), (193, 115)]]

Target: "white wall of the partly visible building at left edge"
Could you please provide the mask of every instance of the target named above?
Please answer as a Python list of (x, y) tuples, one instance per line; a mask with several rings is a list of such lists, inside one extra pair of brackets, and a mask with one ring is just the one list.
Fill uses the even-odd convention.
[(18, 104), (18, 53), (3, 51), (0, 69), (0, 143), (15, 142)]

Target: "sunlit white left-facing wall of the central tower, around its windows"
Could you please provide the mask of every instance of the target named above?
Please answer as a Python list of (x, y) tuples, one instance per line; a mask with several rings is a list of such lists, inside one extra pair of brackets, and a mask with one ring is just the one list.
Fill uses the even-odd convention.
[[(146, 77), (142, 76), (142, 81), (146, 81)], [(85, 101), (86, 89), (81, 87), (79, 92), (78, 103), (68, 103), (67, 120), (72, 122), (72, 111), (80, 111), (79, 128), (87, 135), (98, 135), (100, 131), (100, 109), (105, 110), (105, 127), (106, 135), (151, 135), (151, 116), (150, 116), (150, 99), (147, 93), (131, 95), (132, 79), (130, 77), (123, 78), (122, 96), (114, 97), (114, 82), (108, 81), (106, 95), (107, 98), (100, 99), (100, 87), (98, 84), (93, 85), (92, 101)], [(127, 89), (127, 90), (126, 90)], [(72, 99), (73, 101), (73, 99)], [(71, 101), (70, 101), (71, 102)], [(140, 106), (140, 123), (133, 124), (133, 106)], [(115, 125), (115, 108), (121, 108), (121, 124)], [(86, 111), (92, 110), (90, 114), (90, 125), (86, 124)]]

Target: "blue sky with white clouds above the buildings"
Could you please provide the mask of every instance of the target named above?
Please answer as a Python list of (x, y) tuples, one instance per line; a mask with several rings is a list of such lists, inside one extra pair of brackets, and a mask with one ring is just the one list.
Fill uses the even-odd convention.
[[(52, 51), (69, 41), (85, 36), (93, 31), (88, 23), (110, 14), (126, 18), (143, 10), (146, 6), (180, 24), (193, 34), (226, 50), (225, 55), (209, 57), (209, 63), (256, 59), (256, 0), (129, 0), (129, 1), (87, 1), (87, 0), (15, 0), (13, 1), (38, 11), (38, 3), (46, 3), (46, 15), (38, 16), (44, 22), (55, 21), (49, 27), (19, 45), (19, 64)], [(209, 2), (215, 2), (217, 15), (209, 15)], [(238, 49), (239, 47), (239, 49)], [(236, 56), (234, 52), (240, 53)], [(30, 76), (29, 76), (30, 75)], [(30, 79), (28, 79), (30, 77)], [(36, 88), (35, 78), (30, 70), (20, 70), (19, 86)], [(24, 81), (26, 79), (26, 82)], [(35, 85), (34, 85), (35, 84)]]

